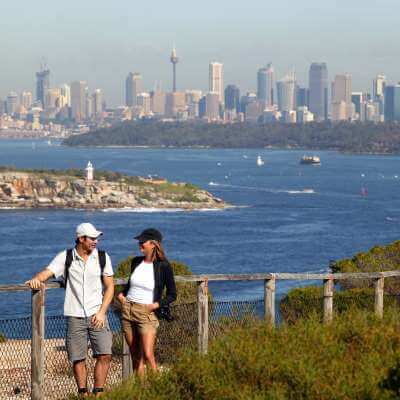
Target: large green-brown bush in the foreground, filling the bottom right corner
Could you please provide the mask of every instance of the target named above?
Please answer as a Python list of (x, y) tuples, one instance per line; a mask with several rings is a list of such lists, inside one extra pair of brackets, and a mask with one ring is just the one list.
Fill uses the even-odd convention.
[(397, 312), (379, 320), (353, 311), (329, 325), (312, 318), (275, 330), (255, 323), (222, 335), (206, 356), (188, 351), (170, 370), (142, 383), (133, 377), (104, 399), (395, 399), (399, 357)]

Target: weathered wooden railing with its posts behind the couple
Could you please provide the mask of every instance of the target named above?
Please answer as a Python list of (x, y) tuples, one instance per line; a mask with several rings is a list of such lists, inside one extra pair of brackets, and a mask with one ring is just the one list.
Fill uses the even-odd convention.
[[(371, 273), (339, 273), (339, 274), (308, 274), (308, 273), (270, 273), (270, 274), (212, 274), (176, 276), (177, 282), (197, 283), (197, 314), (198, 314), (198, 349), (207, 353), (208, 349), (208, 283), (212, 281), (263, 281), (264, 282), (264, 317), (275, 325), (275, 290), (280, 280), (322, 280), (324, 285), (323, 320), (329, 323), (333, 318), (334, 282), (340, 280), (374, 280), (375, 282), (375, 313), (383, 316), (384, 281), (388, 277), (400, 276), (399, 271)], [(126, 279), (115, 279), (115, 284), (124, 285)], [(60, 288), (58, 282), (49, 282), (40, 290), (32, 290), (32, 350), (31, 350), (31, 398), (43, 398), (44, 379), (44, 331), (45, 331), (45, 289)], [(26, 285), (0, 285), (0, 292), (31, 290)], [(123, 377), (131, 371), (129, 349), (124, 341), (123, 346)]]

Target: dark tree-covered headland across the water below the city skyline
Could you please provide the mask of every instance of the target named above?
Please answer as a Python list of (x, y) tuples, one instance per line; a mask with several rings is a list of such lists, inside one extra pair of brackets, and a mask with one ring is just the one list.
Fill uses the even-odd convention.
[(307, 148), (399, 153), (398, 123), (208, 124), (126, 121), (64, 140), (68, 146)]

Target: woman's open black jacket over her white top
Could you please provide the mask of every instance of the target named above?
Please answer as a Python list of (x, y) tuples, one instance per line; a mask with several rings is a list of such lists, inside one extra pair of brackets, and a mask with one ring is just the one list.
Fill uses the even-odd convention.
[[(125, 287), (124, 295), (128, 294), (131, 285), (131, 276), (136, 267), (144, 260), (144, 257), (134, 257), (131, 263), (131, 274), (129, 275), (128, 284)], [(176, 300), (176, 285), (174, 273), (171, 264), (165, 261), (156, 260), (154, 265), (154, 296), (153, 302), (160, 304), (160, 307), (166, 306)], [(167, 289), (166, 295), (162, 298), (164, 288)]]

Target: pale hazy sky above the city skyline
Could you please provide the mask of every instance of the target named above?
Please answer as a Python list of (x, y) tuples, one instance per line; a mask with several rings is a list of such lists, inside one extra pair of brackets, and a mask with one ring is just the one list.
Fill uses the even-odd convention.
[(0, 6), (0, 97), (34, 91), (43, 57), (51, 85), (86, 80), (110, 105), (124, 99), (129, 71), (151, 90), (171, 88), (176, 44), (178, 89), (206, 90), (208, 63), (224, 63), (225, 85), (255, 90), (256, 70), (272, 62), (277, 78), (295, 68), (308, 83), (312, 61), (329, 78), (348, 72), (353, 90), (377, 73), (400, 80), (399, 0), (20, 0)]

